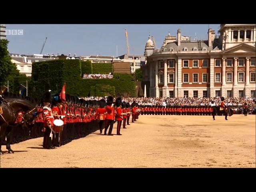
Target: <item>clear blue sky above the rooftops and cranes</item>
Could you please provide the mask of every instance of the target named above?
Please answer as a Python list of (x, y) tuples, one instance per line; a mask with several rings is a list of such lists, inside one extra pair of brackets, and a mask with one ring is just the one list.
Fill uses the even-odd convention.
[[(220, 24), (210, 24), (216, 34)], [(143, 54), (148, 34), (154, 36), (160, 48), (165, 36), (181, 34), (207, 39), (208, 24), (6, 24), (6, 30), (23, 30), (23, 35), (8, 35), (8, 50), (14, 54), (39, 54), (47, 37), (42, 54), (75, 53), (77, 56), (126, 54), (128, 32), (130, 54)]]

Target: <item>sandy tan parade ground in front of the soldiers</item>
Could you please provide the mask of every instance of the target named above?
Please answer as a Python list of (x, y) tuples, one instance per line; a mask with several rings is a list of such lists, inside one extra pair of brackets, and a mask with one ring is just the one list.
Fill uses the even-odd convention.
[[(1, 168), (256, 167), (256, 116), (143, 116), (121, 128), (122, 136), (99, 130), (46, 150), (43, 138), (12, 145)], [(113, 133), (116, 134), (114, 124)]]

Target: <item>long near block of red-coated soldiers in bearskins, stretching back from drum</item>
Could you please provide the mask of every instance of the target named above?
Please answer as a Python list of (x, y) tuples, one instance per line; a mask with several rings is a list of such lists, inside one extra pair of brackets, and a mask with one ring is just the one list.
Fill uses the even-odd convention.
[[(135, 102), (131, 105), (122, 102), (121, 98), (117, 98), (113, 102), (113, 97), (109, 96), (106, 100), (84, 100), (66, 94), (66, 101), (63, 102), (58, 94), (53, 99), (50, 92), (46, 92), (42, 98), (43, 108), (38, 108), (38, 116), (35, 120), (35, 129), (42, 126), (44, 132), (43, 147), (47, 149), (64, 145), (73, 139), (84, 137), (91, 132), (100, 129), (100, 133), (104, 130), (104, 134), (109, 127), (108, 135), (112, 134), (112, 128), (117, 122), (117, 134), (120, 134), (121, 124), (126, 128), (129, 124), (130, 115), (132, 122), (138, 119), (138, 104)], [(50, 108), (50, 104), (52, 107)], [(122, 107), (122, 108), (121, 108)], [(42, 110), (42, 112), (41, 112)], [(131, 111), (131, 112), (130, 112)], [(42, 117), (40, 116), (42, 114)], [(62, 131), (58, 132), (54, 120), (61, 119), (63, 121)], [(40, 124), (40, 125), (39, 125)], [(32, 131), (33, 132), (33, 131)], [(50, 134), (52, 132), (52, 137)]]

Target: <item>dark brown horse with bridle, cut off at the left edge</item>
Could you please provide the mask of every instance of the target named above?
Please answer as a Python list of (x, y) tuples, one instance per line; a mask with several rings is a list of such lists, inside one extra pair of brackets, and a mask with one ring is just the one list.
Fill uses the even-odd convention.
[(8, 153), (14, 153), (10, 147), (11, 140), (11, 130), (16, 127), (16, 114), (19, 111), (24, 111), (23, 116), (24, 122), (32, 122), (34, 120), (33, 112), (35, 110), (35, 105), (26, 100), (25, 98), (18, 96), (16, 94), (5, 94), (5, 100), (2, 100), (1, 106), (3, 108), (3, 114), (0, 116), (0, 153), (2, 154), (1, 146), (2, 141), (6, 137), (6, 149)]

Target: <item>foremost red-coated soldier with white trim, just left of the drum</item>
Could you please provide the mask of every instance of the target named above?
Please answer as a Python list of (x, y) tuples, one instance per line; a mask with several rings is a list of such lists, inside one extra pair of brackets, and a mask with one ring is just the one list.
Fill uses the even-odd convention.
[(44, 132), (44, 141), (43, 141), (43, 148), (45, 149), (53, 149), (55, 148), (52, 146), (52, 139), (50, 137), (51, 128), (53, 126), (53, 114), (52, 109), (49, 107), (52, 101), (50, 91), (44, 93), (42, 98), (42, 106), (43, 106), (43, 113), (44, 113), (44, 125), (43, 125), (43, 132)]

